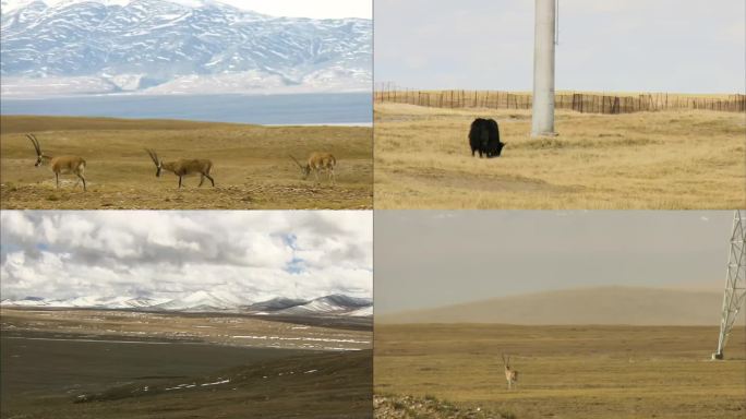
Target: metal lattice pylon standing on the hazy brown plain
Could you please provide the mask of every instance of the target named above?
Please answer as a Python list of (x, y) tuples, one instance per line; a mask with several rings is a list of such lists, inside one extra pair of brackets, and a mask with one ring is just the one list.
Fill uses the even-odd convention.
[(727, 260), (718, 351), (712, 354), (712, 359), (723, 359), (723, 350), (733, 328), (733, 323), (735, 323), (738, 311), (746, 301), (746, 246), (744, 242), (746, 242), (746, 210), (736, 210), (733, 216), (731, 254)]

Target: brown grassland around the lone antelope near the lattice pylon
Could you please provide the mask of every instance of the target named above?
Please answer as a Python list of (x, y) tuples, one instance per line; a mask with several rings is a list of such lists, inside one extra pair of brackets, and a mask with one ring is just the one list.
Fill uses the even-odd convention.
[[(745, 332), (733, 331), (727, 360), (711, 361), (711, 326), (376, 323), (374, 390), (519, 419), (742, 418)], [(502, 352), (518, 390), (507, 390)], [(378, 418), (407, 417), (377, 405)]]

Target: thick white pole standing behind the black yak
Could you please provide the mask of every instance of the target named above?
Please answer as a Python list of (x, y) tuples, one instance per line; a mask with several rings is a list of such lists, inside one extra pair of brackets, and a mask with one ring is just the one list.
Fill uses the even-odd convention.
[(556, 135), (554, 132), (556, 16), (555, 0), (536, 0), (531, 136)]

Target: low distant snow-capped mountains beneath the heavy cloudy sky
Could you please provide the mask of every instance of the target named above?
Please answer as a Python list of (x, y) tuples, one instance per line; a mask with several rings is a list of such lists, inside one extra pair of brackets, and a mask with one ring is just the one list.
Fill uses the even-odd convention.
[(368, 298), (330, 295), (312, 300), (277, 297), (270, 300), (246, 304), (228, 292), (195, 291), (176, 299), (147, 297), (76, 297), (69, 299), (46, 299), (26, 297), (5, 299), (2, 307), (81, 308), (104, 310), (147, 310), (179, 312), (241, 312), (278, 315), (352, 315), (373, 314), (373, 302)]

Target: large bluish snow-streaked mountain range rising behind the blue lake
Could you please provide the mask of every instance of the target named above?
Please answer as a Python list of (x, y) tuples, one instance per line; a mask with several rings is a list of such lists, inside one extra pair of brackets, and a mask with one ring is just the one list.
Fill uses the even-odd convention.
[(2, 92), (370, 89), (372, 22), (277, 17), (213, 0), (2, 0)]

